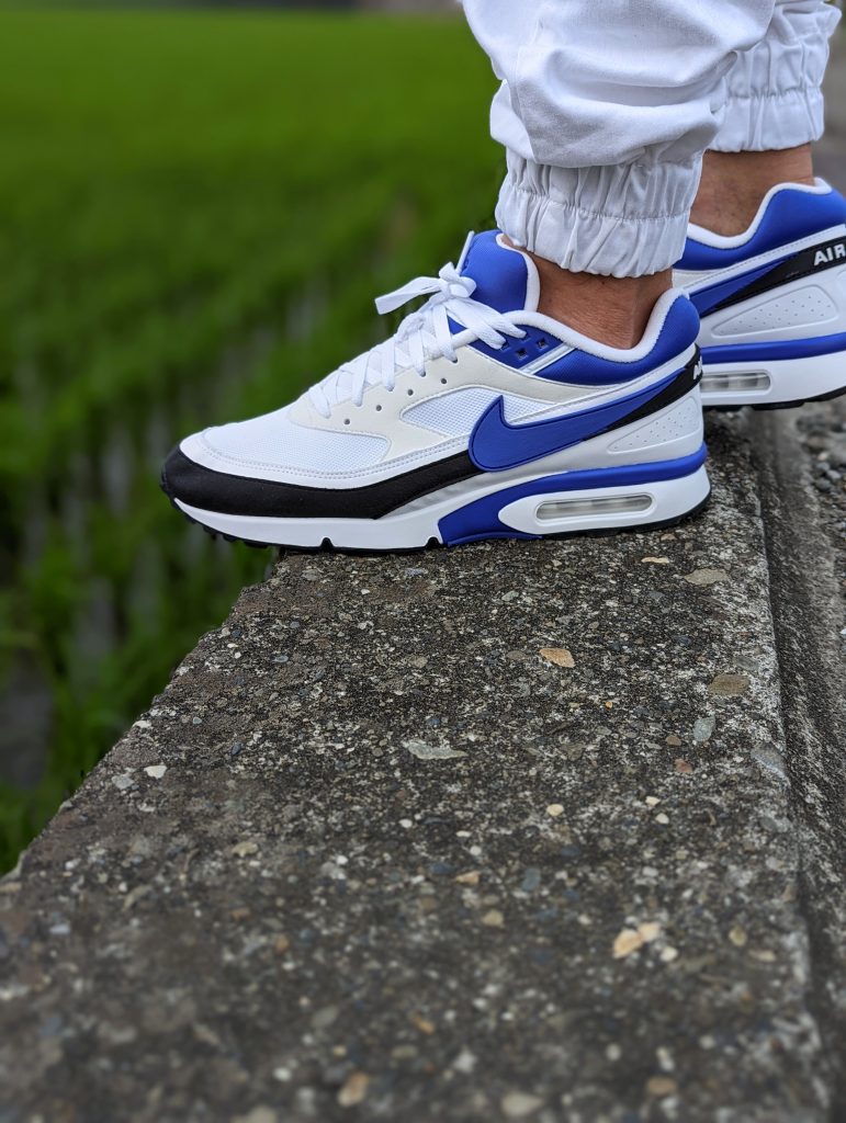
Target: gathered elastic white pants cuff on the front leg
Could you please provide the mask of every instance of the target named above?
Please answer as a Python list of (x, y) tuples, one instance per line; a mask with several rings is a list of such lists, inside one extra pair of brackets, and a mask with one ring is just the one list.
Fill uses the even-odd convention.
[(699, 163), (548, 167), (508, 153), (497, 221), (574, 273), (645, 276), (682, 256)]

